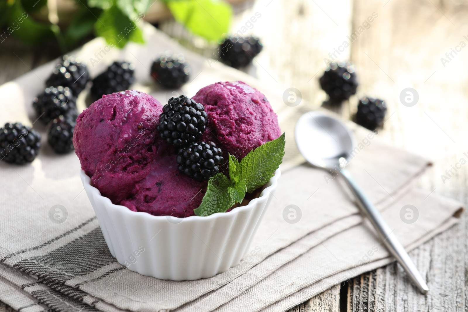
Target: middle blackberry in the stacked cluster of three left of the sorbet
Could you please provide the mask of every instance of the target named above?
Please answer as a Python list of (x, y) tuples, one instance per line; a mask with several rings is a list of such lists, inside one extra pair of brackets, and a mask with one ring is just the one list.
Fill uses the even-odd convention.
[(38, 95), (33, 100), (33, 107), (36, 109), (37, 117), (44, 123), (49, 123), (52, 119), (60, 115), (78, 116), (76, 110), (76, 98), (68, 87), (48, 87), (44, 93)]

